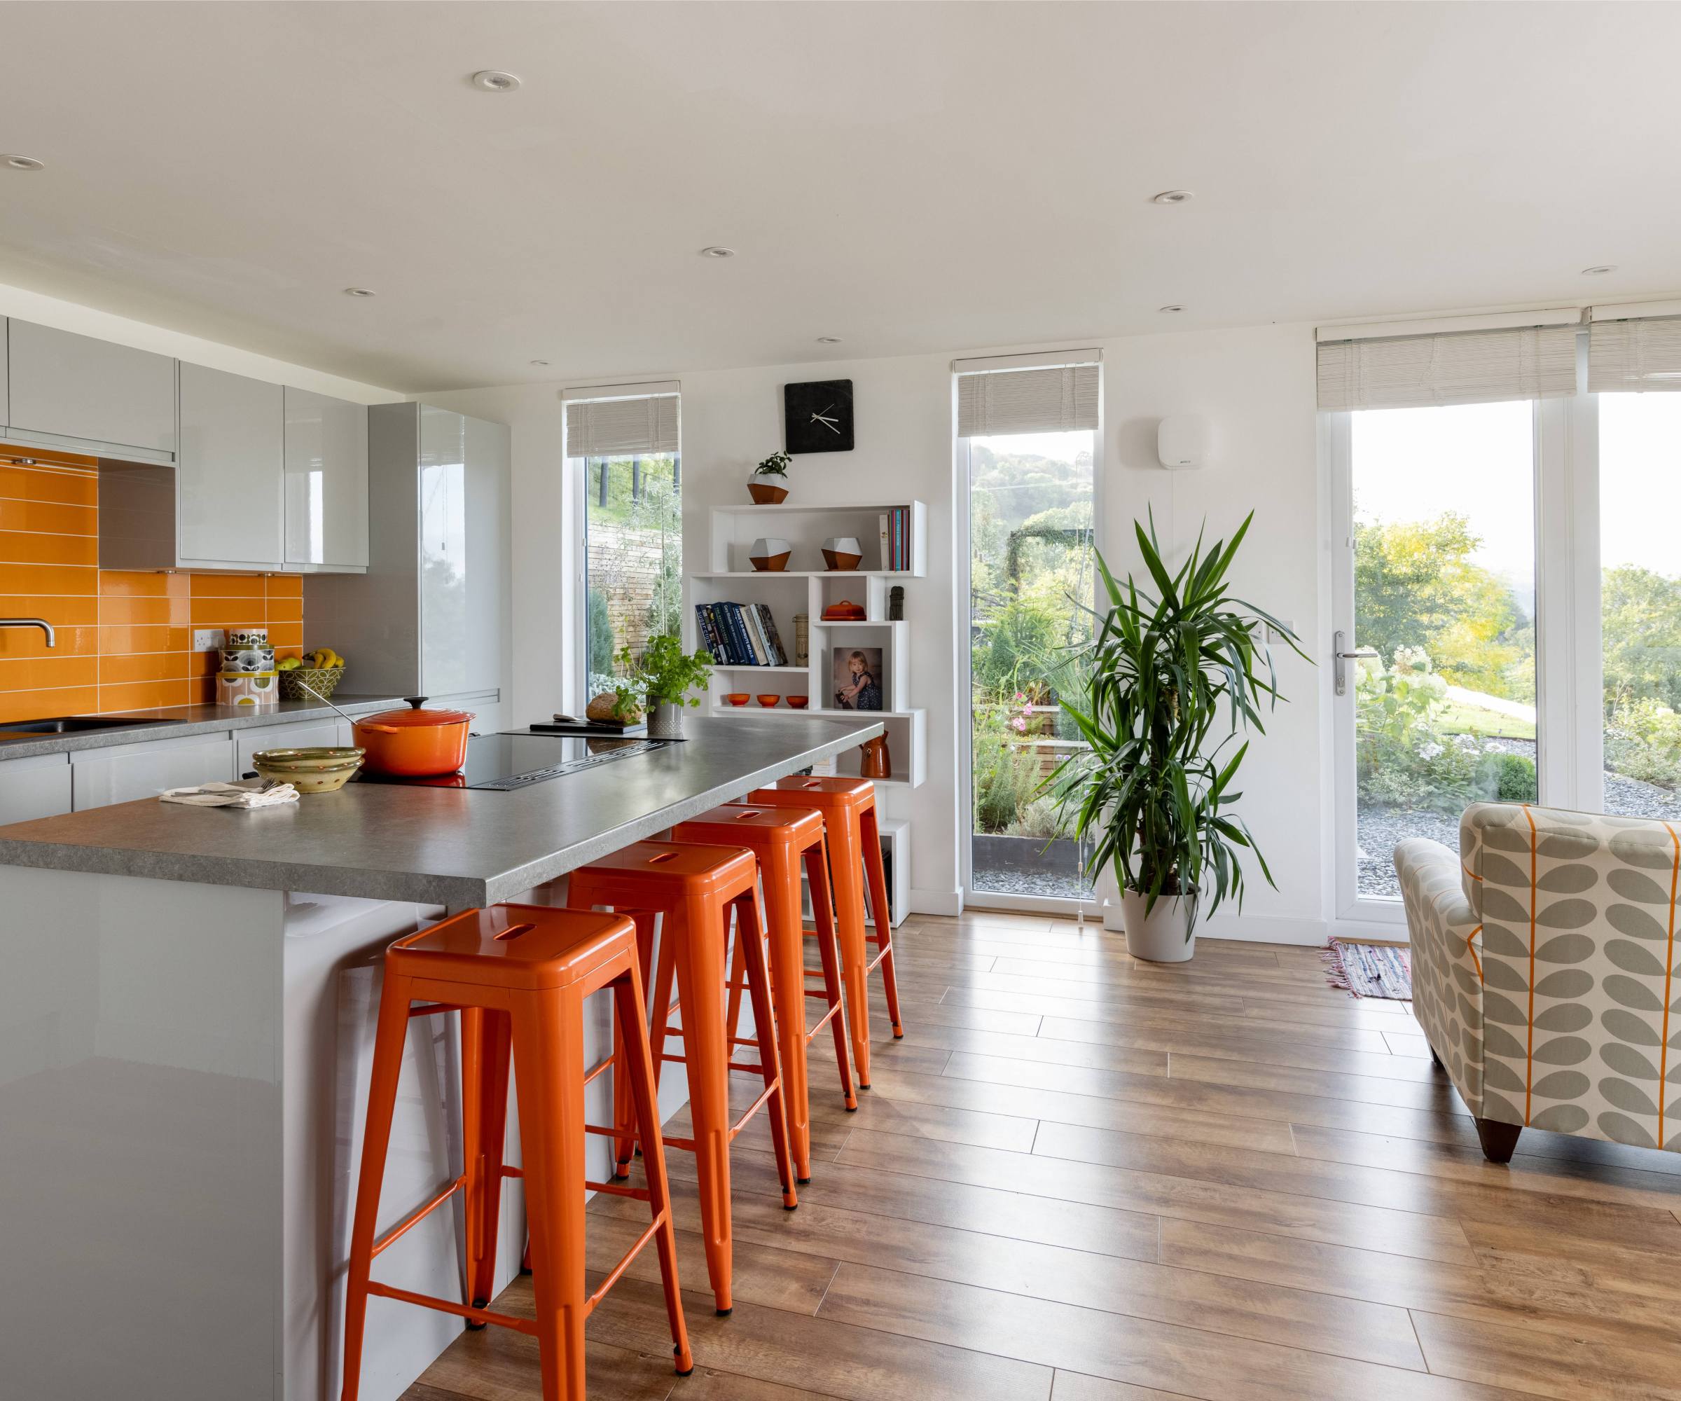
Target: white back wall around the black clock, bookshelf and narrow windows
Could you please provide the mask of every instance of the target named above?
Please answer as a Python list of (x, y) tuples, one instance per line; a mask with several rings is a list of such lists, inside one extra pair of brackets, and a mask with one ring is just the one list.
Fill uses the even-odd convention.
[[(1093, 345), (1081, 340), (1081, 345)], [(1229, 533), (1251, 508), (1256, 521), (1234, 580), (1257, 605), (1293, 622), (1311, 656), (1328, 651), (1326, 543), (1315, 446), (1313, 331), (1259, 326), (1236, 331), (1128, 336), (1098, 341), (1104, 353), (1104, 552), (1135, 565), (1131, 521), (1155, 508), (1157, 528), (1182, 558), (1207, 518)], [(992, 346), (977, 352), (1056, 346)], [(708, 511), (745, 496), (750, 468), (782, 444), (782, 385), (851, 378), (857, 447), (795, 461), (790, 486), (804, 501), (916, 496), (930, 508), (928, 577), (906, 587), (916, 663), (911, 703), (928, 710), (928, 782), (893, 790), (889, 811), (911, 821), (913, 908), (950, 908), (958, 890), (965, 824), (956, 812), (960, 600), (953, 540), (960, 525), (951, 456), (951, 355), (825, 360), (748, 370), (682, 373), (651, 368), (630, 378), (682, 385), (684, 552), (704, 557)], [(429, 402), (508, 422), (514, 429), (514, 723), (573, 700), (575, 622), (561, 609), (573, 558), (563, 479), (560, 385), (514, 385), (429, 395)], [(1200, 471), (1157, 466), (1155, 426), (1194, 412), (1214, 427)], [(1222, 912), (1210, 933), (1320, 942), (1330, 891), (1328, 693), (1325, 671), (1281, 661), (1289, 705), (1279, 706), (1246, 765), (1241, 811), (1262, 844), (1279, 890), (1254, 875), (1244, 915)]]

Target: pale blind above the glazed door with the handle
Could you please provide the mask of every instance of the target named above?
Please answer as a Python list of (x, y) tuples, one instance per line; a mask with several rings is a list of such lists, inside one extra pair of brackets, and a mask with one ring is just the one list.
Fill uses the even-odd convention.
[(1575, 394), (1575, 326), (1320, 345), (1321, 409), (1422, 409)]

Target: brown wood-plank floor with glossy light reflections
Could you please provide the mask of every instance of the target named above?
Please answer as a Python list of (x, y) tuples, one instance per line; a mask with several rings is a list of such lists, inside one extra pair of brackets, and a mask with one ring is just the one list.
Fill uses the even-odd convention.
[[(877, 997), (857, 1113), (814, 1063), (798, 1211), (763, 1117), (736, 1142), (728, 1319), (671, 1154), (698, 1366), (646, 1251), (590, 1322), (592, 1401), (1681, 1398), (1681, 1155), (1526, 1132), (1486, 1164), (1407, 1004), (1330, 991), (1313, 949), (1162, 967), (1009, 915), (896, 947), (906, 1036)], [(605, 1268), (646, 1208), (592, 1208)], [(493, 1327), (407, 1401), (540, 1394)]]

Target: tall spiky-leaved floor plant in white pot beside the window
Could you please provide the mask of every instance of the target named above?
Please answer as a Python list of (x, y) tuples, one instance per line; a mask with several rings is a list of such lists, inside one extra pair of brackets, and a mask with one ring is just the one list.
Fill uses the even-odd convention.
[(1091, 841), (1088, 873), (1113, 866), (1126, 949), (1140, 959), (1182, 962), (1195, 952), (1200, 915), (1227, 896), (1242, 908), (1239, 848), (1274, 885), (1247, 824), (1229, 811), (1242, 796), (1232, 784), (1249, 742), (1224, 752), (1239, 728), (1264, 733), (1262, 696), (1269, 708), (1283, 700), (1262, 629), (1304, 661), (1306, 653), (1289, 627), (1227, 592), (1251, 520), (1252, 511), (1230, 543), (1207, 553), (1199, 535), (1173, 575), (1155, 520), (1148, 531), (1135, 521), (1155, 597), (1131, 577), (1116, 584), (1098, 558), (1108, 607), (1086, 609), (1096, 629), (1074, 658), (1083, 705), (1064, 703), (1088, 748), (1064, 759), (1051, 784), (1074, 812), (1076, 834)]

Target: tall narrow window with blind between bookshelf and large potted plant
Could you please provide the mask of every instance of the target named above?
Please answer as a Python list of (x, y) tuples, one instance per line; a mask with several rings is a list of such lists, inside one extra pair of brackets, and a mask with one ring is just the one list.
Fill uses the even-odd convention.
[(968, 503), (968, 893), (1089, 900), (1084, 856), (1046, 790), (1078, 747), (1062, 703), (1089, 639), (1099, 367), (958, 365)]

